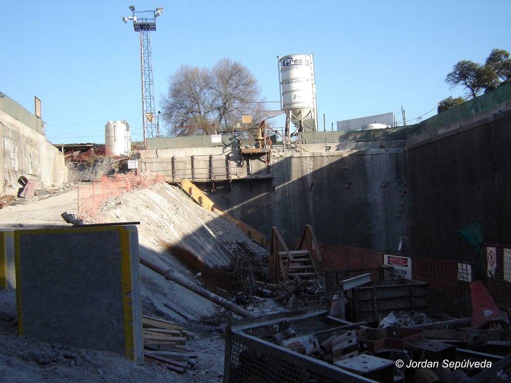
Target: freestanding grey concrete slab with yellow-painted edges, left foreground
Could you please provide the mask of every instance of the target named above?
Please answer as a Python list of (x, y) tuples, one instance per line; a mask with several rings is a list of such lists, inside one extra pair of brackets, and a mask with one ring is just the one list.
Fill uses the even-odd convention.
[(135, 226), (14, 233), (18, 334), (143, 360)]

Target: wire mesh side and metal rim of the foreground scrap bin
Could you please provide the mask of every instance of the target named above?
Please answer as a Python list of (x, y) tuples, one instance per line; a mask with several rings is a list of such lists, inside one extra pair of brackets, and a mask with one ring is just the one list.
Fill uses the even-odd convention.
[[(297, 314), (298, 313), (298, 314)], [(304, 314), (305, 313), (305, 314)], [(301, 312), (255, 319), (252, 325), (229, 326), (226, 333), (224, 383), (376, 383), (313, 357), (275, 345), (275, 335), (292, 328), (297, 336), (332, 328), (328, 312), (311, 308)], [(258, 320), (261, 323), (257, 323)], [(243, 321), (242, 321), (243, 322)]]

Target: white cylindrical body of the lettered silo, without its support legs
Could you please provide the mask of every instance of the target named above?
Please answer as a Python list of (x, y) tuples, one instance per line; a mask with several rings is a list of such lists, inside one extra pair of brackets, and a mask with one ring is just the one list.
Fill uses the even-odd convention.
[[(279, 58), (279, 63), (282, 108), (296, 112), (300, 109), (314, 109), (314, 73), (311, 56), (284, 56)], [(304, 110), (301, 114), (307, 113)]]

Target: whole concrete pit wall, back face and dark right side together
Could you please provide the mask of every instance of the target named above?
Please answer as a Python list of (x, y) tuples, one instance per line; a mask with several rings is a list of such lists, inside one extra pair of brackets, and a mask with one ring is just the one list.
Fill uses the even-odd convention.
[(472, 250), (456, 230), (469, 223), (486, 243), (511, 241), (510, 127), (505, 102), (376, 148), (274, 154), (272, 181), (237, 181), (210, 198), (267, 236), (277, 226), (290, 246), (311, 224), (327, 244), (397, 251), (404, 236), (409, 254), (462, 260)]

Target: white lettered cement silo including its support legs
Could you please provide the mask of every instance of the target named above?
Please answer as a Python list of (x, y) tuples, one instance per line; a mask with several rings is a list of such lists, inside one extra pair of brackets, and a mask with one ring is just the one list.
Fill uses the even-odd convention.
[(296, 127), (294, 133), (317, 130), (316, 85), (312, 54), (278, 57), (278, 64), (281, 107), (286, 112), (287, 135), (291, 135), (290, 122)]

